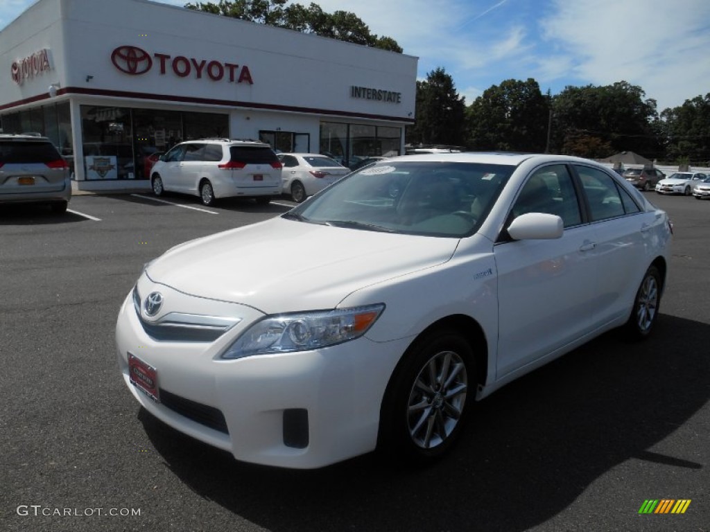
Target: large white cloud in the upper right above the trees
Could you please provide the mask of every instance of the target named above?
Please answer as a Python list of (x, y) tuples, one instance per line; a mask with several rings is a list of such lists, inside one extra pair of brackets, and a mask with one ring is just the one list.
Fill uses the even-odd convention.
[[(541, 27), (575, 79), (626, 80), (656, 99), (659, 110), (710, 92), (710, 2), (555, 0), (554, 5), (555, 13)], [(555, 75), (554, 63), (542, 66)]]

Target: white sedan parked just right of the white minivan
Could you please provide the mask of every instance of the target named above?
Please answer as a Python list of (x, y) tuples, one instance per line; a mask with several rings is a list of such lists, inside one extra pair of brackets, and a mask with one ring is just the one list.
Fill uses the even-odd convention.
[(283, 162), (283, 192), (301, 203), (320, 192), (350, 170), (336, 160), (319, 153), (279, 153)]

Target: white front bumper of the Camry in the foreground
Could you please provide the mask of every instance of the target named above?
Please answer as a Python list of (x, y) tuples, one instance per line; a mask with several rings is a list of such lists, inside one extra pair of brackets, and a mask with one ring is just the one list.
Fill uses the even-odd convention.
[[(220, 359), (251, 323), (213, 343), (156, 341), (129, 294), (116, 323), (126, 386), (155, 417), (237, 460), (314, 468), (373, 450), (383, 395), (408, 340), (363, 337), (322, 350)], [(155, 368), (166, 400), (131, 384), (129, 353)]]

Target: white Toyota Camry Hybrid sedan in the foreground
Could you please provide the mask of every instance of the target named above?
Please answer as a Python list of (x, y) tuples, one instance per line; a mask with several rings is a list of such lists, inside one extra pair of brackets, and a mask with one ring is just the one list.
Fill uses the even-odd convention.
[(148, 263), (119, 365), (151, 414), (238, 460), (427, 461), (472, 401), (611, 328), (648, 337), (671, 235), (589, 160), (383, 160)]

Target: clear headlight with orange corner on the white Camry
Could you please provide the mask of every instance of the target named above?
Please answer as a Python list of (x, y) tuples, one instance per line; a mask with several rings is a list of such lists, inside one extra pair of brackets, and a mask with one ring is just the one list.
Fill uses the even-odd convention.
[(384, 304), (376, 304), (267, 316), (244, 331), (221, 358), (293, 353), (348, 342), (364, 335), (384, 309)]

